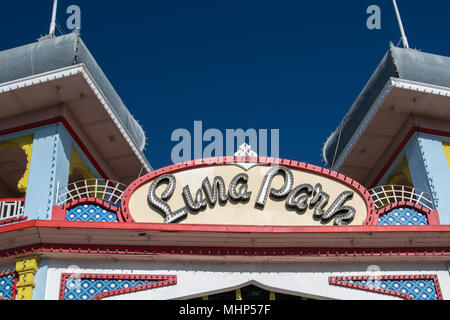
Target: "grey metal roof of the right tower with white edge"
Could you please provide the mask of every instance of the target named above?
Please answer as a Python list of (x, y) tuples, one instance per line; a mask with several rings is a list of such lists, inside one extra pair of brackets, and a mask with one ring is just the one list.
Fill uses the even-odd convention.
[[(392, 87), (389, 83), (392, 79), (436, 88), (450, 88), (450, 58), (414, 49), (398, 48), (391, 44), (338, 128), (325, 142), (323, 159), (333, 170), (341, 169), (349, 150), (367, 128), (373, 114), (378, 111), (373, 106), (376, 103), (381, 104), (389, 94), (389, 88)], [(431, 109), (433, 108), (429, 106), (421, 115), (435, 117), (436, 115), (425, 114), (433, 112)], [(416, 110), (411, 110), (411, 114), (414, 112)], [(401, 127), (402, 123), (397, 125)], [(352, 176), (349, 172), (346, 174)], [(363, 175), (353, 175), (352, 178), (364, 181)]]

